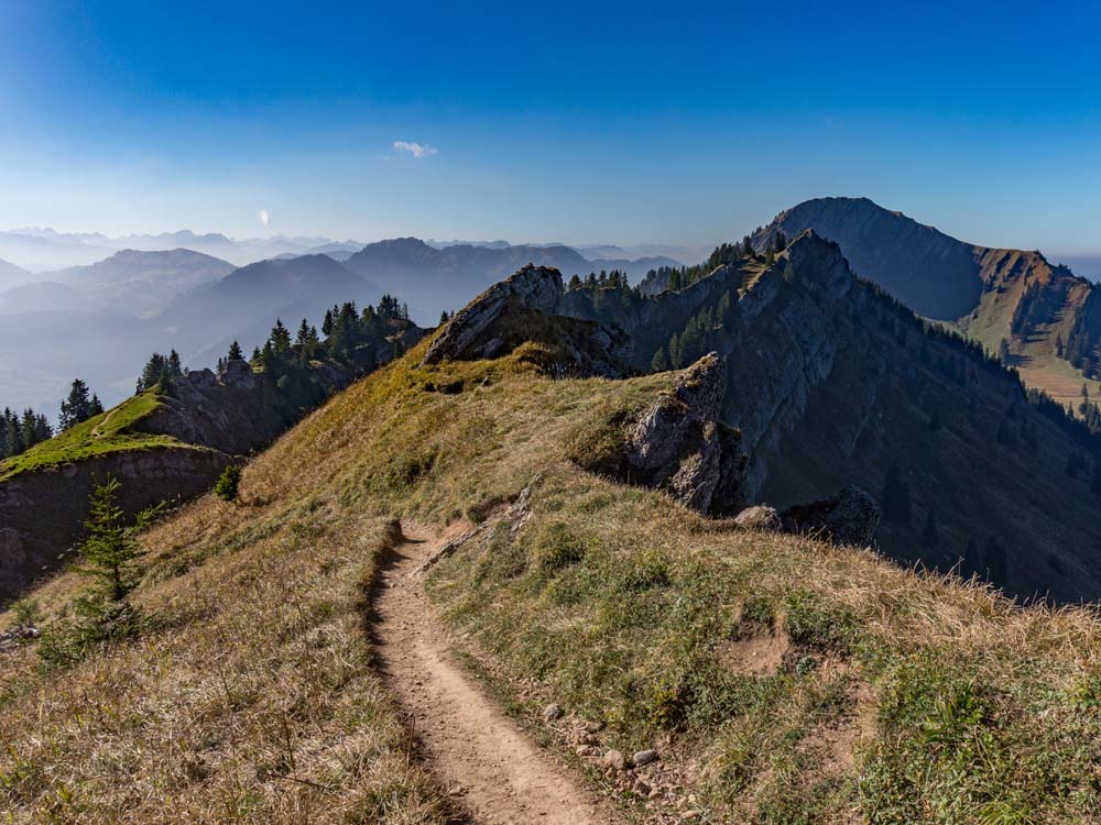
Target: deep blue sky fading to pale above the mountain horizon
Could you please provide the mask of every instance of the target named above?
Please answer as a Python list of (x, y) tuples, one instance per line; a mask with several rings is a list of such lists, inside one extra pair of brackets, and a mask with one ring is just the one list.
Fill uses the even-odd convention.
[(1093, 252), (1098, 31), (1012, 1), (3, 0), (0, 227), (707, 244), (866, 195)]

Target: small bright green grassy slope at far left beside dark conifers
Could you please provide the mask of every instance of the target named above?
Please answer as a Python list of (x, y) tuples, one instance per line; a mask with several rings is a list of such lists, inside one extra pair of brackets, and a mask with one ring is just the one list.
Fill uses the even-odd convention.
[(32, 470), (84, 461), (110, 452), (150, 447), (186, 447), (171, 436), (132, 431), (133, 425), (153, 413), (157, 403), (153, 393), (137, 395), (48, 441), (35, 444), (26, 452), (6, 459), (0, 462), (0, 481)]

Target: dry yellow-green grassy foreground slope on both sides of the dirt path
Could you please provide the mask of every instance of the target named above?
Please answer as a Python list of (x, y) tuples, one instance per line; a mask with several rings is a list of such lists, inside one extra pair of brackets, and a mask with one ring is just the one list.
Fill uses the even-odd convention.
[[(657, 741), (731, 822), (1099, 816), (1092, 614), (737, 532), (563, 460), (602, 449), (614, 430), (600, 422), (667, 375), (414, 370), (421, 349), (253, 462), (248, 506), (208, 496), (148, 537), (140, 598), (157, 629), (62, 674), (37, 672), (30, 649), (7, 658), (0, 807), (15, 821), (439, 821), (368, 668), (361, 583), (383, 517), (477, 519), (542, 473), (523, 529), (487, 531), (429, 583), (531, 724), (556, 700), (607, 722), (611, 744)], [(457, 381), (460, 394), (424, 388)], [(75, 586), (62, 576), (37, 598), (56, 612)], [(762, 669), (759, 648), (784, 656)]]

